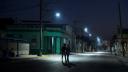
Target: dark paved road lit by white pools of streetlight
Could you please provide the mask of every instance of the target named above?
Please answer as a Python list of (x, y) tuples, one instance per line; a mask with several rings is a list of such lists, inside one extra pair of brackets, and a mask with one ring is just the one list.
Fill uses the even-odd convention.
[(60, 55), (1, 61), (0, 72), (128, 72), (116, 56), (107, 53), (79, 53), (70, 56), (70, 64), (62, 64)]

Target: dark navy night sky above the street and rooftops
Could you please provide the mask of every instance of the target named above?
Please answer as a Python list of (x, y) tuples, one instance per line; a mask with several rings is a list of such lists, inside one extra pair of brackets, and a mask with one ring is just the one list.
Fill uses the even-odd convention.
[[(59, 23), (76, 21), (81, 28), (88, 27), (91, 33), (110, 39), (119, 24), (117, 1), (45, 0), (43, 14), (47, 15), (48, 20)], [(128, 28), (128, 0), (120, 1), (122, 24)], [(55, 12), (61, 13), (61, 19), (55, 19)], [(38, 19), (39, 0), (0, 0), (0, 17)]]

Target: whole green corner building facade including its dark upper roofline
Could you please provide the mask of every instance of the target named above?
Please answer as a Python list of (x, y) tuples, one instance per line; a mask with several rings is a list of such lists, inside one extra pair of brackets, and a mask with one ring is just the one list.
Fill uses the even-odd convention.
[(67, 24), (44, 24), (42, 49), (40, 49), (40, 24), (9, 25), (7, 36), (27, 40), (30, 43), (30, 54), (38, 54), (40, 50), (43, 54), (60, 54), (62, 45), (72, 41), (72, 34), (67, 30), (68, 26)]

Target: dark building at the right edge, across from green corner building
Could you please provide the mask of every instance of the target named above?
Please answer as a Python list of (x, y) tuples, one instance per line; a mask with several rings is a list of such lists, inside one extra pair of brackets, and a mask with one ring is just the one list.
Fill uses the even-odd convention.
[(116, 55), (122, 55), (124, 52), (125, 56), (128, 55), (128, 29), (122, 30), (122, 37), (120, 33), (113, 35), (111, 40), (111, 51)]

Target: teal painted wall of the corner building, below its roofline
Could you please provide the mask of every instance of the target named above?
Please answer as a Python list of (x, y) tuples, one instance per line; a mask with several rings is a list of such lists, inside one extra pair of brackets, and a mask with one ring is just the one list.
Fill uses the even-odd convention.
[[(15, 35), (15, 38), (27, 40), (30, 43), (30, 54), (38, 54), (39, 49), (40, 49), (40, 30), (29, 30), (25, 31), (24, 29), (22, 30), (10, 30), (8, 31), (8, 34), (13, 34)], [(64, 33), (60, 31), (44, 31), (43, 32), (43, 49), (42, 53), (43, 54), (49, 54), (49, 53), (54, 53), (54, 54), (59, 54), (61, 52), (61, 47), (63, 45), (63, 38), (68, 37)], [(54, 37), (54, 43), (52, 45), (52, 37)], [(33, 45), (32, 40), (36, 39), (35, 46)]]

